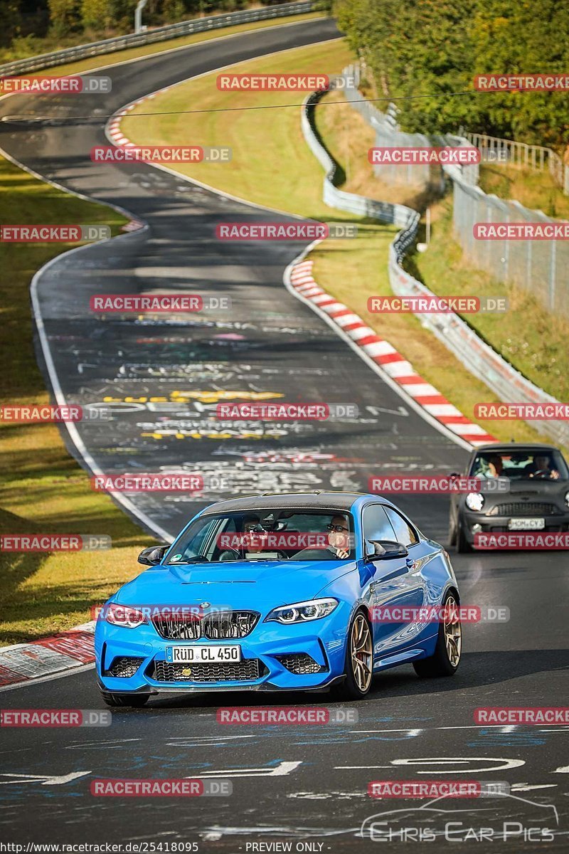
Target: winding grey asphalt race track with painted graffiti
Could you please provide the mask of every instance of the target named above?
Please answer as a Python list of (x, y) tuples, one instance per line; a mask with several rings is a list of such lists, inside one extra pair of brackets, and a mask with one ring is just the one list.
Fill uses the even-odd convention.
[[(0, 147), (9, 155), (69, 189), (125, 208), (148, 225), (63, 256), (38, 281), (40, 313), (67, 401), (161, 396), (175, 404), (169, 412), (152, 411), (144, 403), (117, 407), (110, 424), (80, 424), (80, 438), (96, 465), (107, 473), (183, 467), (212, 478), (212, 485), (191, 500), (174, 494), (132, 496), (136, 512), (150, 520), (147, 529), (173, 535), (200, 506), (222, 495), (366, 491), (369, 475), (395, 466), (448, 473), (466, 459), (464, 448), (421, 418), (285, 290), (282, 274), (299, 254), (299, 243), (216, 241), (218, 222), (263, 220), (266, 212), (154, 167), (108, 166), (89, 159), (94, 144), (107, 143), (105, 120), (97, 115), (195, 74), (336, 36), (330, 21), (276, 26), (111, 67), (105, 73), (113, 79), (113, 91), (104, 97), (32, 101), (15, 96), (0, 102), (3, 115), (57, 116), (41, 126), (0, 123)], [(93, 118), (85, 122), (73, 120), (74, 115)], [(90, 312), (90, 295), (142, 290), (228, 295), (232, 310), (152, 321)], [(360, 418), (296, 427), (255, 424), (255, 430), (264, 430), (255, 438), (253, 424), (245, 436), (234, 425), (235, 434), (219, 438), (212, 407), (223, 398), (212, 395), (215, 390), (270, 392), (286, 401), (351, 402)], [(278, 435), (269, 435), (275, 426)], [(69, 447), (78, 453), (70, 442)], [(216, 491), (215, 483), (222, 480), (223, 488)], [(425, 533), (446, 541), (447, 500), (409, 496), (400, 504)], [(466, 828), (520, 822), (523, 830), (514, 835), (510, 826), (511, 836), (497, 844), (473, 839), (473, 850), (566, 848), (567, 727), (480, 727), (473, 722), (479, 706), (566, 702), (566, 555), (482, 553), (455, 556), (453, 564), (463, 604), (507, 605), (511, 615), (508, 623), (466, 627), (466, 652), (453, 680), (419, 681), (410, 666), (384, 673), (369, 699), (357, 705), (357, 724), (223, 727), (215, 710), (224, 698), (212, 694), (113, 711), (110, 728), (3, 729), (3, 839), (195, 841), (206, 852), (270, 851), (251, 844), (277, 841), (292, 841), (293, 851), (377, 850), (369, 838), (356, 835), (362, 822), (382, 811), (402, 810), (405, 802), (386, 806), (369, 798), (368, 782), (436, 780), (443, 774), (455, 780), (508, 781), (511, 797), (436, 804), (450, 817), (426, 816), (418, 810), (424, 802), (412, 801), (412, 808), (393, 821), (404, 816), (407, 827), (439, 833), (446, 821), (462, 822), (462, 834)], [(274, 702), (314, 706), (328, 705), (329, 699), (326, 693), (282, 695)], [(267, 705), (267, 698), (233, 694), (230, 704)], [(87, 669), (3, 690), (1, 705), (96, 709), (102, 701)], [(231, 780), (232, 796), (92, 798), (89, 793), (96, 777), (196, 775)], [(536, 828), (552, 828), (553, 840), (541, 839)], [(459, 828), (454, 829), (460, 839)], [(304, 848), (297, 849), (297, 843)], [(395, 847), (395, 842), (389, 845)]]

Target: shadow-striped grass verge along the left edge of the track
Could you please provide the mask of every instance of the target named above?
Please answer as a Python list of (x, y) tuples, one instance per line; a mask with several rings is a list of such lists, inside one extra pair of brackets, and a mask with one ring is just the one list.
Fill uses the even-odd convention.
[[(125, 219), (43, 184), (0, 158), (2, 222), (94, 223), (118, 234)], [(30, 280), (50, 258), (73, 244), (0, 243), (5, 406), (49, 403), (32, 345)], [(6, 272), (6, 271), (9, 271)], [(152, 542), (110, 498), (93, 492), (87, 474), (67, 453), (55, 424), (0, 423), (3, 479), (2, 534), (107, 534), (113, 549), (80, 553), (0, 553), (0, 644), (33, 640), (90, 618), (90, 605), (107, 599), (136, 575), (136, 554)]]

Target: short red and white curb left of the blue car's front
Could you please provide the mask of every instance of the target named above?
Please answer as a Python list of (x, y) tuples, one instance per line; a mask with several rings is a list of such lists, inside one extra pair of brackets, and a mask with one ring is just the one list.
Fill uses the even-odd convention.
[(0, 686), (52, 676), (95, 661), (95, 621), (31, 643), (0, 647)]

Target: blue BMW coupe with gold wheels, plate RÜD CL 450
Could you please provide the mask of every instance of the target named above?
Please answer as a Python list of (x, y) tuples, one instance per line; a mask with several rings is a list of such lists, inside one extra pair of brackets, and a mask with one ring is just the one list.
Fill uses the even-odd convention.
[(379, 670), (409, 663), (418, 676), (452, 676), (460, 662), (449, 555), (377, 495), (218, 501), (138, 561), (149, 568), (96, 623), (107, 705), (327, 687), (360, 699)]

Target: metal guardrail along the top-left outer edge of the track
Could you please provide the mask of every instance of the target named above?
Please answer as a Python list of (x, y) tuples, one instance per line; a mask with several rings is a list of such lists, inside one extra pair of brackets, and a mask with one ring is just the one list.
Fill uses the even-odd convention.
[(6, 62), (0, 65), (0, 77), (9, 77), (14, 74), (30, 71), (40, 71), (42, 68), (50, 68), (64, 65), (79, 59), (89, 59), (90, 56), (113, 53), (115, 50), (139, 47), (144, 44), (163, 42), (170, 38), (189, 36), (194, 32), (206, 32), (216, 30), (222, 26), (235, 26), (235, 24), (247, 24), (255, 20), (270, 20), (271, 18), (284, 18), (288, 15), (301, 15), (311, 12), (316, 7), (313, 0), (301, 0), (299, 3), (282, 3), (278, 6), (268, 6), (264, 9), (244, 9), (241, 12), (229, 12), (227, 15), (212, 15), (208, 18), (193, 18), (183, 20), (178, 24), (159, 26), (156, 29), (141, 32), (138, 35), (131, 33), (126, 36), (105, 38), (100, 42), (90, 44), (78, 44), (77, 47), (55, 50), (52, 53), (30, 56), (26, 59)]

